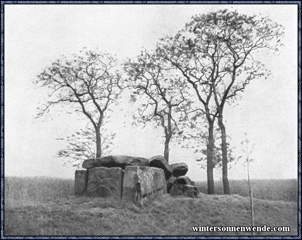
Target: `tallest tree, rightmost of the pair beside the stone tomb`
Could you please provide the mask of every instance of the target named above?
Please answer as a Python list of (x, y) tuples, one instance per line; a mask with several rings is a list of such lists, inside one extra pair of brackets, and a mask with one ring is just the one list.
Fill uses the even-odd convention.
[(227, 141), (223, 110), (251, 80), (267, 78), (268, 72), (257, 60), (259, 51), (278, 51), (283, 27), (267, 17), (247, 17), (236, 11), (221, 10), (194, 16), (187, 24), (194, 34), (193, 49), (203, 49), (211, 63), (208, 80), (213, 85), (214, 99), (221, 131), (222, 180), (224, 194), (230, 194), (227, 173)]

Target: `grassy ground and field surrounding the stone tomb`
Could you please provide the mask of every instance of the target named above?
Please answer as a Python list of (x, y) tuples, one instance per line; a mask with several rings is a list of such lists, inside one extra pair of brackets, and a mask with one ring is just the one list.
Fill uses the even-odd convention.
[[(191, 226), (199, 224), (250, 226), (249, 198), (238, 194), (209, 196), (201, 193), (198, 199), (166, 195), (144, 207), (137, 207), (124, 201), (75, 197), (73, 180), (38, 177), (5, 177), (4, 180), (5, 236), (251, 235), (250, 232), (192, 231)], [(291, 192), (288, 189), (294, 189), (297, 183), (295, 180), (273, 180), (274, 184), (278, 181), (287, 188), (274, 188), (273, 200), (266, 200), (265, 190), (272, 188), (270, 180), (259, 183), (263, 195), (254, 187), (258, 197), (254, 199), (255, 225), (290, 226), (291, 231), (261, 232), (255, 236), (297, 235), (297, 202), (294, 197), (286, 197)], [(241, 183), (235, 182), (230, 184), (232, 191), (244, 195), (245, 191), (240, 191)], [(198, 182), (198, 185), (203, 192), (203, 183)], [(216, 190), (219, 191), (217, 183)], [(283, 196), (282, 200), (275, 200), (275, 195)]]

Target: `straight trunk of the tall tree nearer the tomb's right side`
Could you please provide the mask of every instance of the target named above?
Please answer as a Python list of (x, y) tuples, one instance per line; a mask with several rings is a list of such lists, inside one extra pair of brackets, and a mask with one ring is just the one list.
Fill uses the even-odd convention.
[(214, 121), (209, 121), (209, 143), (207, 145), (208, 194), (214, 194), (213, 157), (214, 157)]

